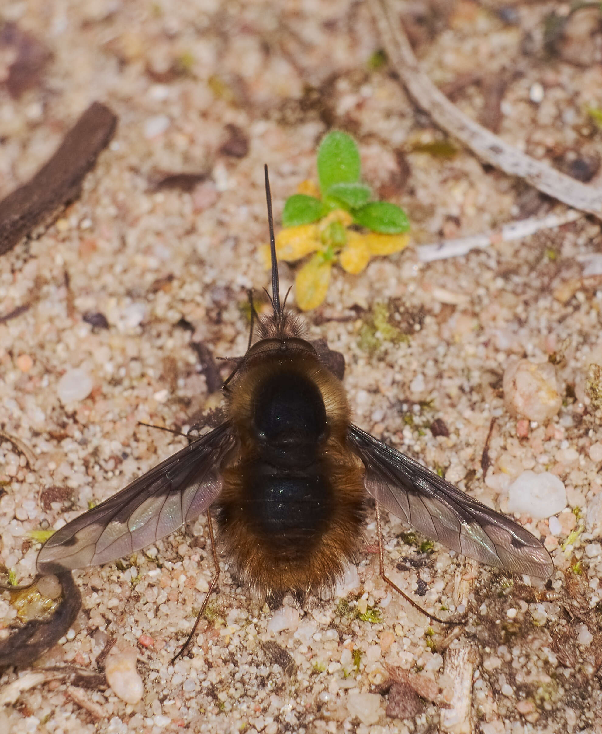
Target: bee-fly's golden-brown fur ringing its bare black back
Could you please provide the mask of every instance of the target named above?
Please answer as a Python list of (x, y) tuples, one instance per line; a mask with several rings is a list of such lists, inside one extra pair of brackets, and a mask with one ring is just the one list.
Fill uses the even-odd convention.
[[(320, 363), (313, 346), (301, 339), (298, 322), (282, 316), (260, 322), (260, 333), (267, 338), (249, 349), (230, 390), (230, 421), (240, 437), (240, 455), (224, 470), (216, 515), (235, 577), (258, 596), (274, 601), (290, 593), (302, 599), (336, 584), (359, 550), (365, 500), (363, 469), (346, 445), (350, 411), (345, 390)], [(328, 482), (330, 501), (328, 517), (313, 533), (300, 528), (278, 534), (276, 528), (268, 534), (249, 517), (242, 468), (258, 454), (252, 429), (254, 399), (261, 386), (282, 371), (315, 385), (326, 409), (327, 437), (320, 443), (315, 469)]]

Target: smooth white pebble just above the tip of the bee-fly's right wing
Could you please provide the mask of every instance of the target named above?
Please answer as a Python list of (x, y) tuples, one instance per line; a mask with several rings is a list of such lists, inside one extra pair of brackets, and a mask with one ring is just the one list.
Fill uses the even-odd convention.
[(557, 515), (567, 505), (567, 493), (556, 474), (526, 470), (508, 487), (508, 512), (534, 520)]

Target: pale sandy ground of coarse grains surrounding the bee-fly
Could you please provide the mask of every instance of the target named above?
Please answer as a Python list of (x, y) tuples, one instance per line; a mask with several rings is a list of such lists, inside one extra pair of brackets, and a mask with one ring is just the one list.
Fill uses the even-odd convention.
[[(525, 55), (526, 32), (537, 40), (550, 7), (513, 6), (512, 24), (492, 8), (449, 6), (447, 18), (435, 8), (433, 23), (414, 23), (433, 81), (512, 68), (504, 138), (551, 161), (599, 150), (600, 133), (584, 112), (601, 103), (599, 63)], [(379, 44), (361, 2), (4, 0), (0, 18), (52, 54), (20, 97), (0, 87), (0, 196), (43, 164), (92, 101), (120, 117), (80, 199), (39, 239), (0, 258), (0, 316), (29, 306), (0, 323), (0, 424), (38, 456), (29, 467), (0, 443), (0, 562), (19, 582), (32, 577), (39, 549), (29, 531), (76, 517), (184, 445), (138, 422), (182, 429), (204, 406), (191, 342), (221, 357), (245, 351), (246, 289), (268, 286), (258, 254), (267, 240), (264, 163), (278, 219), (297, 184), (315, 178), (324, 132), (350, 131), (364, 177), (408, 211), (415, 244), (552, 206), (469, 153), (415, 150), (441, 134), (385, 67), (371, 70)], [(0, 70), (4, 62), (10, 58)], [(455, 101), (475, 117), (485, 103), (475, 84)], [(191, 192), (157, 190), (180, 172), (206, 178)], [(326, 303), (306, 318), (312, 338), (345, 355), (345, 386), (364, 429), (502, 511), (507, 477), (525, 469), (546, 468), (565, 484), (567, 506), (552, 528), (521, 517), (553, 552), (547, 587), (509, 581), (440, 546), (425, 559), (401, 523), (386, 519), (392, 578), (422, 593), (427, 608), (468, 609), (454, 645), (470, 648), (467, 701), (483, 734), (601, 731), (602, 455), (592, 447), (602, 430), (585, 386), (590, 363), (602, 364), (602, 289), (579, 260), (599, 243), (599, 225), (586, 220), (428, 266), (409, 248), (376, 258), (357, 277), (336, 269)], [(281, 273), (284, 292), (294, 271), (283, 265)], [(367, 352), (359, 334), (378, 302), (409, 338)], [(108, 328), (84, 321), (89, 313), (102, 313)], [(550, 356), (562, 407), (518, 435), (504, 407), (504, 368), (511, 357)], [(59, 381), (73, 368), (92, 389), (62, 401)], [(481, 455), (493, 417), (485, 484)], [(449, 437), (433, 437), (436, 418)], [(387, 666), (421, 672), (443, 697), (455, 681), (443, 675), (448, 630), (378, 576), (372, 510), (357, 573), (338, 598), (303, 607), (289, 598), (271, 610), (236, 588), (222, 561), (193, 655), (172, 666), (213, 573), (207, 536), (200, 519), (122, 564), (76, 573), (83, 609), (40, 661), (96, 669), (116, 639), (117, 649), (139, 652), (142, 700), (128, 705), (110, 688), (40, 686), (0, 712), (0, 730), (438, 730), (440, 698), (403, 719), (383, 686)], [(10, 613), (6, 601), (0, 611)], [(0, 686), (16, 675), (5, 672)]]

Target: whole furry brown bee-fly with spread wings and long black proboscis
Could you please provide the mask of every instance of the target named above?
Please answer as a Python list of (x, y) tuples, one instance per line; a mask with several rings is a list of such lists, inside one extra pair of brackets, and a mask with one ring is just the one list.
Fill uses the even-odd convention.
[(226, 420), (56, 531), (40, 572), (128, 556), (202, 512), (213, 541), (211, 508), (238, 581), (272, 600), (305, 597), (356, 558), (370, 496), (392, 586), (380, 509), (477, 561), (548, 578), (554, 564), (540, 540), (351, 423), (342, 383), (281, 305), (267, 167), (265, 189), (272, 313), (224, 386)]

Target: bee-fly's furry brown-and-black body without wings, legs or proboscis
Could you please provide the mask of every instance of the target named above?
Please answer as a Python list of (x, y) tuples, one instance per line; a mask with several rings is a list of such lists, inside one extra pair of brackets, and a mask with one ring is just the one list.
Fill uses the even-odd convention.
[(224, 470), (216, 519), (235, 576), (275, 600), (333, 586), (364, 517), (341, 383), (306, 341), (268, 338), (232, 386), (230, 420), (241, 451)]

